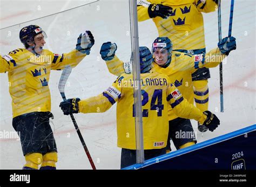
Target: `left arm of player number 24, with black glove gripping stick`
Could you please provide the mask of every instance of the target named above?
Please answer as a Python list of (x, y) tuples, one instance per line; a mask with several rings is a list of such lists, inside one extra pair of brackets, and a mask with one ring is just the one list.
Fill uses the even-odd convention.
[(111, 87), (107, 88), (103, 93), (98, 96), (90, 97), (80, 100), (79, 98), (68, 99), (60, 103), (62, 111), (65, 115), (70, 113), (101, 113), (105, 112), (113, 106), (114, 103), (121, 97), (122, 76), (118, 77)]

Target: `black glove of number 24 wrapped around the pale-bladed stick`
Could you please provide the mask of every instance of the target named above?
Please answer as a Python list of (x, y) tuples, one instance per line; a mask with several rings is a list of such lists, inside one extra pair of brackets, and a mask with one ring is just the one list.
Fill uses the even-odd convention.
[(59, 107), (62, 109), (64, 115), (69, 115), (71, 113), (78, 113), (78, 102), (80, 101), (79, 98), (73, 98), (65, 100), (59, 104)]

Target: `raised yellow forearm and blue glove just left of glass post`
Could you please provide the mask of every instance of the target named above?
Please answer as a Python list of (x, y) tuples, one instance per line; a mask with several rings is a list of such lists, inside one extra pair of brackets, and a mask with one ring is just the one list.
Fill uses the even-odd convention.
[(106, 62), (109, 72), (113, 75), (119, 76), (125, 73), (125, 70), (123, 68), (123, 61), (119, 60), (116, 56), (116, 51), (117, 45), (108, 41), (102, 44), (99, 53), (102, 56), (102, 59)]

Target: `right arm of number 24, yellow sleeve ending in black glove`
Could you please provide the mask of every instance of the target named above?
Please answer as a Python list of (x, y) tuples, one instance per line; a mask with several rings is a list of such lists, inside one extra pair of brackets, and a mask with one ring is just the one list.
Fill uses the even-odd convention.
[(169, 85), (167, 102), (178, 117), (197, 120), (200, 124), (208, 127), (210, 131), (214, 131), (220, 124), (219, 119), (212, 112), (201, 112), (196, 106), (188, 103), (173, 84)]

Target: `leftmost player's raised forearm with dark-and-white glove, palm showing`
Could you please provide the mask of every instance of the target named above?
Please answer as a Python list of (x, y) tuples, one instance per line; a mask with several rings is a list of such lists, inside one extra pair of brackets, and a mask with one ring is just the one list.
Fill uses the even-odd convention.
[(52, 54), (51, 69), (63, 69), (66, 65), (70, 65), (72, 68), (76, 67), (86, 55), (90, 54), (91, 47), (94, 44), (95, 40), (91, 31), (81, 33), (77, 38), (76, 49), (73, 49), (70, 53), (63, 53), (61, 55)]

